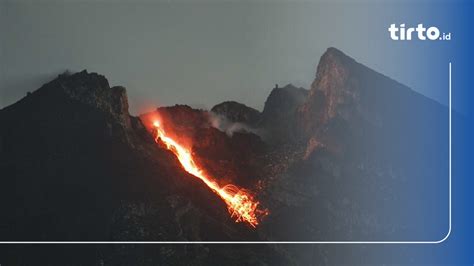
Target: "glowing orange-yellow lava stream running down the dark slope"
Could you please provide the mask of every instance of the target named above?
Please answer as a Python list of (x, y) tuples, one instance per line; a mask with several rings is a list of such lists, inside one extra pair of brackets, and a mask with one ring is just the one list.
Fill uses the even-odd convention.
[(255, 228), (259, 223), (257, 216), (261, 217), (268, 214), (267, 210), (257, 208), (259, 202), (256, 201), (251, 194), (237, 186), (229, 184), (220, 187), (212, 177), (209, 177), (199, 168), (188, 149), (165, 134), (159, 122), (154, 122), (153, 126), (156, 128), (155, 141), (158, 142), (161, 140), (168, 150), (172, 151), (176, 157), (178, 157), (184, 170), (201, 179), (212, 191), (219, 195), (227, 204), (227, 209), (231, 217), (235, 218), (236, 222), (247, 222)]

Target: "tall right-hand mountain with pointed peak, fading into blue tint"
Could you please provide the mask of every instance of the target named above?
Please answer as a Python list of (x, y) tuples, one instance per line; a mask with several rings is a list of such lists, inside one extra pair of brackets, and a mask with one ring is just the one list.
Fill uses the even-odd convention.
[(293, 154), (294, 163), (269, 182), (266, 203), (279, 213), (269, 219), (268, 234), (306, 240), (444, 236), (447, 212), (437, 210), (448, 204), (447, 108), (329, 48), (296, 109), (267, 132), (280, 135), (293, 120), (294, 138), (304, 143), (282, 151)]

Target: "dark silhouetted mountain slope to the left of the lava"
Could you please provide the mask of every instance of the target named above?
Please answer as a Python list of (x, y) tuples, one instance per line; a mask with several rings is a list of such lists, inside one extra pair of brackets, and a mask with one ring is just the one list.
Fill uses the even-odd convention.
[[(0, 124), (2, 241), (257, 237), (154, 142), (142, 122), (129, 115), (125, 89), (111, 88), (101, 75), (60, 75), (2, 109)], [(110, 252), (100, 259), (113, 261)], [(134, 252), (133, 246), (121, 251), (125, 257)], [(272, 250), (258, 258), (248, 255), (255, 250), (243, 252), (237, 255), (242, 264), (280, 257), (270, 255)], [(212, 260), (236, 255), (196, 245), (160, 249), (149, 259), (206, 263), (211, 254)], [(64, 259), (67, 253), (56, 256)]]

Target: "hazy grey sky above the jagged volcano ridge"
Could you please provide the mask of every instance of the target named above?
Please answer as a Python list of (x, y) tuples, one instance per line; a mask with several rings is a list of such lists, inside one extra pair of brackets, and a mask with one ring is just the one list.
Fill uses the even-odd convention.
[(445, 58), (426, 67), (432, 47), (388, 38), (397, 16), (410, 21), (407, 10), (344, 1), (0, 0), (0, 108), (66, 69), (87, 69), (125, 86), (134, 114), (224, 100), (261, 110), (276, 83), (309, 88), (330, 46), (446, 102)]

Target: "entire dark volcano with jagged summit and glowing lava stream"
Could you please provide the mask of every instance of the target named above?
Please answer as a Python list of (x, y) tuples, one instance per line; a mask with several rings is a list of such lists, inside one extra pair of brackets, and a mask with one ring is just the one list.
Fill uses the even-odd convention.
[[(438, 178), (447, 173), (447, 129), (439, 123), (447, 114), (335, 48), (322, 55), (311, 88), (276, 87), (262, 112), (226, 101), (211, 110), (175, 105), (132, 116), (125, 88), (85, 70), (61, 74), (0, 110), (0, 237), (431, 236), (447, 222), (430, 207), (447, 204), (447, 179)], [(422, 235), (413, 235), (420, 227)], [(164, 264), (231, 257), (241, 264), (308, 262), (298, 251), (267, 245), (150, 255)]]

